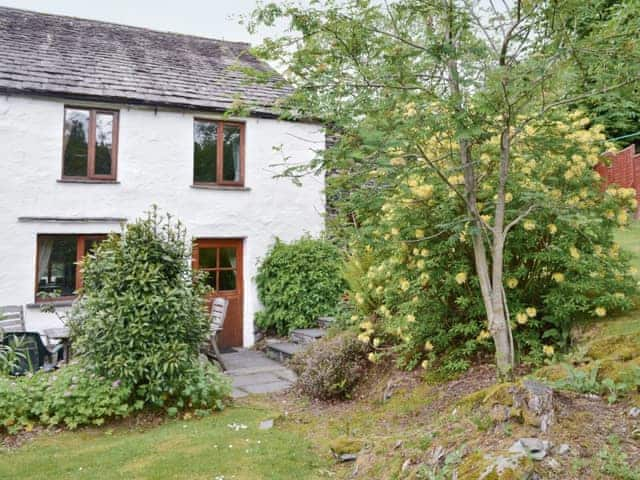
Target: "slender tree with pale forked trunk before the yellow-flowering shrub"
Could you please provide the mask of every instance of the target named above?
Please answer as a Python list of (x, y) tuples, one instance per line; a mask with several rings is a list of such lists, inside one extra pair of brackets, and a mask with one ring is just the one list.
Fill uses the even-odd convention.
[[(313, 167), (418, 165), (460, 200), (461, 213), (441, 229), (469, 225), (502, 377), (511, 375), (515, 361), (505, 244), (548, 197), (514, 183), (514, 145), (531, 136), (532, 122), (552, 122), (556, 110), (604, 98), (639, 80), (637, 66), (611, 68), (607, 55), (625, 48), (627, 59), (637, 58), (638, 17), (615, 15), (584, 35), (563, 34), (568, 22), (586, 12), (577, 1), (489, 1), (482, 8), (460, 0), (327, 0), (310, 7), (268, 4), (254, 12), (250, 24), (255, 29), (288, 21), (288, 35), (255, 49), (261, 58), (287, 66), (296, 90), (283, 103), (285, 114), (321, 118), (340, 131), (334, 152)], [(572, 81), (577, 56), (599, 73), (580, 89)], [(428, 142), (437, 148), (427, 148)], [(492, 142), (497, 148), (487, 152)], [(284, 171), (297, 173), (297, 166)], [(479, 200), (485, 185), (493, 193), (490, 218)], [(385, 189), (384, 183), (374, 186)], [(514, 190), (526, 192), (517, 210), (506, 201)]]

